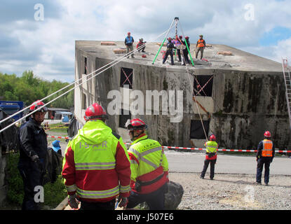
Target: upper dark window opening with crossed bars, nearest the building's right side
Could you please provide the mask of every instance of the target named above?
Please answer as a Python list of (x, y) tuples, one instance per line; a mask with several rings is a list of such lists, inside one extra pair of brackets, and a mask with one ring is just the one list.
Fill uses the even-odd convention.
[(212, 85), (213, 76), (194, 76), (194, 94), (196, 96), (212, 97)]

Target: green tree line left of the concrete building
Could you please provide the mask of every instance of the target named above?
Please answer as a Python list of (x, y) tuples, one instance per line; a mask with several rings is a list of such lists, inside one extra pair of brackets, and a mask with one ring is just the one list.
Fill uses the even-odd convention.
[[(0, 100), (23, 101), (26, 106), (29, 106), (37, 99), (43, 99), (49, 94), (52, 94), (67, 85), (69, 85), (69, 83), (63, 83), (57, 80), (43, 80), (35, 76), (33, 71), (25, 71), (20, 77), (16, 76), (14, 73), (7, 74), (0, 72)], [(74, 85), (65, 88), (65, 90), (62, 90), (57, 94), (53, 94), (52, 97), (43, 100), (43, 102), (45, 104), (50, 102), (50, 100), (55, 99), (55, 97), (60, 94), (72, 89), (72, 87), (74, 87)], [(73, 106), (74, 90), (48, 104), (48, 107), (63, 109), (71, 109)]]

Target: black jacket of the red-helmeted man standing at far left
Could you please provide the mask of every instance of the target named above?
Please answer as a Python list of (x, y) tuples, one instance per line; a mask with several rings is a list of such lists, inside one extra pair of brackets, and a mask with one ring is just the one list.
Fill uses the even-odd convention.
[(39, 160), (45, 160), (48, 150), (46, 132), (33, 118), (20, 127), (20, 162), (32, 161), (33, 155), (38, 155)]

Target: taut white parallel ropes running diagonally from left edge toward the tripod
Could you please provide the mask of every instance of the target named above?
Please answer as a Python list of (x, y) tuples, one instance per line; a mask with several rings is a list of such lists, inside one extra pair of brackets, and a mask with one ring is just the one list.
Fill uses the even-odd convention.
[[(168, 30), (167, 30), (167, 31), (168, 31)], [(160, 36), (162, 36), (163, 34), (165, 34), (165, 32), (166, 32), (166, 31), (164, 31), (162, 34), (158, 35), (157, 38), (159, 38)], [(156, 39), (157, 39), (157, 38), (156, 38)], [(147, 43), (144, 43), (144, 45), (146, 45), (146, 44), (147, 44)], [(121, 56), (121, 57), (115, 59), (115, 60), (113, 61), (114, 64), (112, 64), (113, 62), (110, 62), (110, 63), (108, 63), (108, 64), (102, 66), (100, 69), (102, 69), (102, 68), (108, 66), (109, 64), (111, 64), (111, 65), (108, 66), (106, 69), (100, 71), (99, 73), (95, 74), (94, 76), (92, 76), (92, 77), (90, 77), (90, 78), (87, 79), (87, 76), (92, 75), (93, 73), (95, 73), (96, 71), (99, 71), (100, 69), (97, 69), (96, 71), (93, 71), (92, 73), (90, 73), (90, 74), (84, 76), (83, 78), (86, 78), (85, 81), (83, 81), (82, 83), (79, 83), (78, 85), (75, 85), (75, 87), (73, 87), (72, 89), (68, 90), (67, 92), (64, 92), (64, 93), (60, 94), (59, 96), (55, 97), (55, 99), (52, 99), (50, 102), (48, 102), (48, 103), (44, 104), (43, 106), (39, 107), (38, 109), (36, 109), (36, 111), (39, 111), (39, 110), (42, 109), (44, 106), (50, 104), (51, 102), (54, 102), (56, 99), (59, 99), (59, 98), (62, 97), (63, 95), (67, 94), (68, 92), (70, 92), (70, 91), (76, 89), (76, 87), (79, 87), (79, 85), (83, 85), (83, 83), (86, 83), (88, 80), (94, 78), (95, 76), (97, 76), (97, 75), (99, 75), (100, 73), (106, 71), (107, 69), (110, 69), (112, 66), (114, 66), (115, 64), (118, 64), (118, 63), (121, 62), (123, 59), (125, 59), (126, 57), (132, 55), (132, 54), (133, 54), (134, 52), (136, 52), (137, 50), (142, 49), (142, 48), (144, 47), (144, 45), (142, 45), (142, 46), (140, 46), (139, 48), (136, 48), (135, 50), (133, 50), (133, 51), (131, 51), (131, 52), (128, 52), (128, 53), (126, 53), (125, 55), (123, 55), (123, 56)], [(115, 62), (115, 61), (116, 61), (116, 62)], [(83, 78), (80, 78), (79, 80), (83, 80)], [(74, 83), (78, 82), (79, 80), (76, 80)], [(71, 84), (69, 84), (69, 85), (72, 85), (72, 84), (74, 84), (74, 83), (71, 83)], [(67, 85), (67, 87), (68, 87), (69, 85)], [(64, 89), (65, 89), (65, 87), (63, 87), (61, 90), (64, 90)], [(55, 93), (57, 93), (57, 92), (60, 92), (60, 90), (56, 91)], [(54, 94), (55, 94), (55, 93), (54, 93)], [(53, 94), (50, 94), (48, 97), (50, 97), (51, 95), (53, 95)], [(43, 99), (46, 99), (46, 98), (48, 98), (48, 97), (45, 97), (45, 98), (43, 98)], [(42, 101), (43, 99), (41, 99), (41, 101)], [(30, 105), (30, 106), (31, 106), (31, 105)], [(30, 106), (27, 106), (27, 108), (29, 108)], [(27, 109), (27, 108), (25, 108), (25, 109)], [(15, 114), (18, 114), (18, 113), (20, 113), (20, 112), (22, 112), (22, 111), (25, 111), (25, 109), (22, 109), (21, 111), (18, 111), (18, 112), (15, 113)], [(28, 113), (26, 116), (24, 116), (24, 117), (22, 117), (22, 118), (16, 120), (14, 123), (11, 123), (10, 125), (8, 125), (8, 126), (2, 128), (2, 129), (0, 130), (0, 133), (1, 133), (1, 132), (4, 132), (4, 130), (8, 129), (8, 127), (11, 127), (11, 126), (15, 125), (16, 123), (18, 123), (18, 121), (20, 121), (20, 120), (22, 120), (22, 119), (24, 119), (24, 118), (27, 118), (28, 116), (32, 115), (32, 113), (35, 113), (36, 111), (32, 111), (31, 113)], [(15, 116), (15, 114), (13, 114), (13, 115), (10, 116), (10, 117)], [(9, 118), (9, 117), (8, 117), (8, 118)], [(5, 118), (4, 120), (8, 120), (8, 118)], [(0, 123), (4, 122), (4, 120), (1, 120)]]

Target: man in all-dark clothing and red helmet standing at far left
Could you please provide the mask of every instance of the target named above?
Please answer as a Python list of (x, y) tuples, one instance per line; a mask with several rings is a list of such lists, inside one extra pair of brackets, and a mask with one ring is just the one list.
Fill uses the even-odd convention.
[(18, 169), (25, 192), (22, 210), (41, 209), (40, 202), (34, 200), (34, 197), (37, 196), (36, 193), (39, 193), (36, 187), (43, 186), (43, 174), (46, 167), (48, 141), (41, 123), (47, 111), (43, 102), (37, 100), (29, 108), (29, 113), (33, 112), (31, 117), (20, 127)]

